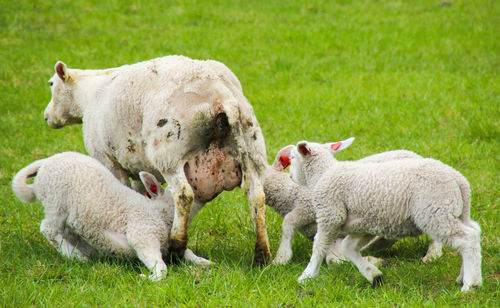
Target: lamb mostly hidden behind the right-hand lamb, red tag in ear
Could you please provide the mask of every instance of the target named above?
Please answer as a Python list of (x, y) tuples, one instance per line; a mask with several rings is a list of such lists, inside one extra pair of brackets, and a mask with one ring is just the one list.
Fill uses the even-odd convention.
[[(336, 152), (338, 152), (347, 148), (353, 141), (354, 138), (350, 138), (331, 144), (337, 147)], [(281, 242), (273, 264), (285, 264), (290, 261), (292, 257), (292, 239), (296, 230), (299, 230), (310, 240), (313, 240), (316, 234), (314, 209), (309, 189), (303, 185), (296, 184), (287, 173), (282, 172), (290, 165), (288, 157), (292, 148), (292, 145), (286, 146), (278, 152), (273, 164), (268, 166), (264, 178), (266, 204), (283, 217)], [(396, 150), (373, 154), (358, 160), (358, 162), (385, 162), (403, 158), (422, 158), (422, 156), (407, 150)], [(340, 249), (342, 239), (343, 237), (338, 238), (328, 249), (326, 255), (326, 263), (328, 265), (345, 260)], [(374, 237), (361, 251), (380, 250), (389, 247), (394, 242), (395, 240)], [(433, 240), (422, 260), (428, 262), (441, 255), (441, 244)], [(374, 257), (366, 257), (366, 259), (374, 264), (381, 264), (383, 262), (383, 260)]]

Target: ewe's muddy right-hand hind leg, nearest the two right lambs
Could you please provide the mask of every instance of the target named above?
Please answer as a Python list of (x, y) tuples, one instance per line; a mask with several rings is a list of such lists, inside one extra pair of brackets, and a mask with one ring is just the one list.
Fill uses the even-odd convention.
[[(250, 178), (246, 178), (250, 176)], [(247, 186), (246, 183), (249, 185)], [(271, 260), (271, 250), (269, 249), (269, 239), (266, 229), (266, 196), (264, 187), (256, 172), (243, 173), (243, 188), (247, 194), (248, 206), (252, 216), (255, 229), (255, 252), (254, 265), (261, 265)]]

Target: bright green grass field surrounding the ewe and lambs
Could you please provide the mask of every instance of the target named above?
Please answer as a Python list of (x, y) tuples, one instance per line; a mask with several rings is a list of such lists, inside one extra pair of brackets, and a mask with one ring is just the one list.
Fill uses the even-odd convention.
[[(216, 59), (240, 79), (268, 159), (298, 140), (355, 136), (339, 159), (413, 150), (462, 172), (482, 227), (483, 287), (459, 292), (461, 258), (406, 239), (376, 289), (350, 263), (302, 286), (312, 244), (286, 266), (253, 268), (253, 227), (239, 189), (195, 218), (189, 246), (211, 269), (172, 265), (159, 283), (140, 262), (67, 260), (39, 232), (43, 209), (12, 193), (13, 175), (62, 151), (85, 152), (81, 126), (50, 129), (43, 110), (57, 60), (105, 68), (169, 54)], [(498, 1), (0, 0), (0, 306), (500, 306), (500, 3)], [(282, 219), (268, 209), (275, 253)]]

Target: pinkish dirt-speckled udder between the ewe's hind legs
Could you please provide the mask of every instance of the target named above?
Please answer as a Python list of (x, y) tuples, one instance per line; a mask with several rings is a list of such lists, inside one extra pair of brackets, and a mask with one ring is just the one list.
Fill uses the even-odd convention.
[(236, 159), (217, 143), (188, 160), (184, 173), (193, 188), (194, 198), (200, 202), (209, 202), (223, 190), (239, 186), (242, 176)]

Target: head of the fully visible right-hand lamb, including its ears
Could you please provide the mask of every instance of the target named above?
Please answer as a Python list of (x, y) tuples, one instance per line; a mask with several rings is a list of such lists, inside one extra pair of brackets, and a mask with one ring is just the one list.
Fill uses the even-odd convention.
[(290, 177), (295, 183), (312, 188), (321, 175), (337, 161), (332, 154), (346, 149), (353, 141), (354, 137), (324, 144), (298, 142), (290, 150)]

